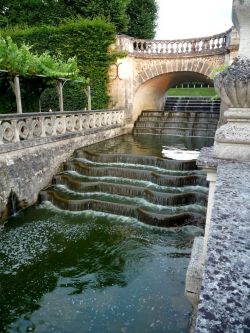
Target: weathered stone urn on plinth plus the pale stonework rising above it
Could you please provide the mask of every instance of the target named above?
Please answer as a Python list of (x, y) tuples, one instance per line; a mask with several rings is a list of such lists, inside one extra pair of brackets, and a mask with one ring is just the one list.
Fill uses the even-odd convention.
[(214, 155), (250, 161), (250, 0), (234, 0), (232, 18), (240, 35), (239, 56), (214, 80), (229, 106), (224, 114), (227, 123), (215, 134)]

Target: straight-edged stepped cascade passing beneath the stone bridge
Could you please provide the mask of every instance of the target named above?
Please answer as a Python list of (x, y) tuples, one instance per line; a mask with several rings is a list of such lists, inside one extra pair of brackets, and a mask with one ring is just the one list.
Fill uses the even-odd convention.
[(164, 110), (142, 111), (133, 133), (213, 138), (219, 115), (219, 99), (168, 97)]

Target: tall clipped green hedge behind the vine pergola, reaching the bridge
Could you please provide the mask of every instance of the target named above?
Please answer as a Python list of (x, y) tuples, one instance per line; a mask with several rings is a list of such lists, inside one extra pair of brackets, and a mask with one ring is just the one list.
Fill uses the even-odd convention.
[[(2, 34), (10, 35), (18, 44), (32, 45), (37, 54), (49, 51), (50, 54), (60, 56), (64, 61), (76, 57), (80, 75), (90, 79), (92, 91), (92, 107), (105, 108), (109, 101), (107, 95), (107, 73), (109, 66), (116, 60), (117, 55), (111, 54), (109, 46), (115, 41), (115, 27), (102, 19), (67, 20), (59, 26), (41, 26), (23, 29), (15, 27), (6, 29)], [(54, 96), (50, 100), (47, 99)], [(83, 109), (87, 102), (82, 85), (77, 83), (64, 87), (65, 103), (68, 110)], [(77, 96), (77, 97), (76, 97)], [(58, 109), (55, 89), (44, 91), (44, 108)], [(69, 98), (69, 100), (68, 100)], [(54, 101), (53, 101), (53, 100)]]

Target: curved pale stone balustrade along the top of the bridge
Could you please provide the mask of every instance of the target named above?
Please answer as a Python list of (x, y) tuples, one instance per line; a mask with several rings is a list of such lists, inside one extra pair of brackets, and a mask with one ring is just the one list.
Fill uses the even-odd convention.
[(224, 53), (228, 50), (231, 29), (209, 37), (176, 39), (176, 40), (148, 40), (120, 36), (119, 47), (135, 55), (200, 55)]

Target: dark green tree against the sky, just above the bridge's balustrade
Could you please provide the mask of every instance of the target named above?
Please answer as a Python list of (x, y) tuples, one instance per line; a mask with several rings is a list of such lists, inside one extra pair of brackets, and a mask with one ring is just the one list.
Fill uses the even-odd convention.
[(154, 38), (157, 10), (156, 0), (131, 0), (127, 8), (130, 19), (127, 34), (137, 38)]

